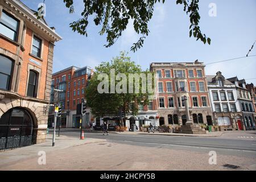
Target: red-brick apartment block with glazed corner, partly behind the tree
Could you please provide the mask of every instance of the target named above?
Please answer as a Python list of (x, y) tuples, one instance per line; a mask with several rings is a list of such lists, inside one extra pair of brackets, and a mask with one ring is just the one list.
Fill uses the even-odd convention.
[[(76, 115), (77, 104), (80, 104), (82, 98), (85, 97), (85, 88), (88, 85), (88, 80), (92, 76), (92, 68), (89, 67), (69, 67), (59, 72), (53, 73), (51, 84), (51, 102), (62, 106), (62, 114), (57, 118), (57, 126), (67, 128), (80, 127), (80, 115)], [(62, 90), (56, 92), (54, 89)], [(59, 95), (58, 95), (59, 94)], [(90, 109), (86, 109), (86, 114), (83, 119), (82, 126), (89, 125)], [(54, 121), (53, 110), (49, 113), (48, 126), (51, 127)], [(59, 123), (60, 121), (60, 123)]]

